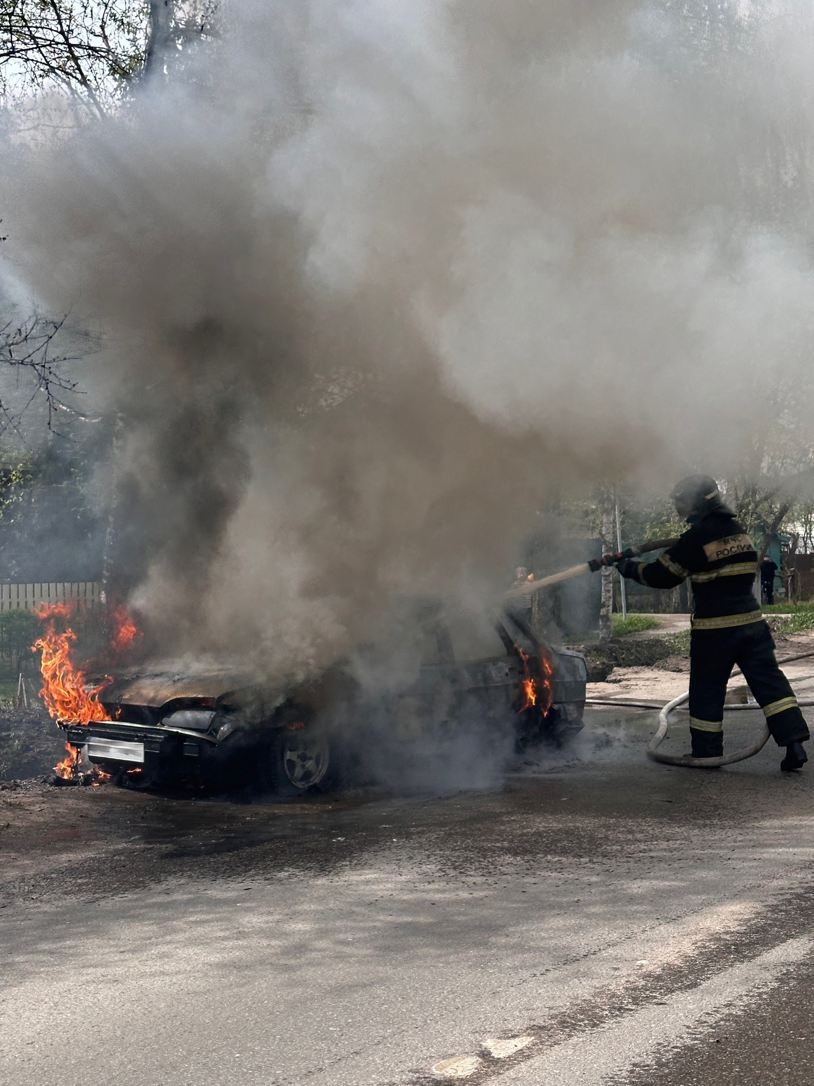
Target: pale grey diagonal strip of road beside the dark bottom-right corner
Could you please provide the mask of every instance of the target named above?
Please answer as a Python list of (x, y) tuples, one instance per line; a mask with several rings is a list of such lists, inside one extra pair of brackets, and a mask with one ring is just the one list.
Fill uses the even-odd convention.
[(500, 1077), (500, 1086), (600, 1086), (657, 1051), (713, 1027), (714, 1020), (762, 995), (814, 947), (810, 936), (789, 939), (752, 961), (734, 965), (689, 992), (667, 996), (641, 1010), (540, 1052)]

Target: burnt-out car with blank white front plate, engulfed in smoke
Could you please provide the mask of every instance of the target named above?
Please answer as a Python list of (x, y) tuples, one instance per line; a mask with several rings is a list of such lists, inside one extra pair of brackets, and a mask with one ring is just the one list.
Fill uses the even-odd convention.
[(62, 725), (77, 760), (81, 752), (123, 783), (254, 781), (283, 795), (368, 772), (376, 749), (397, 760), (423, 743), (443, 757), (473, 723), (521, 747), (582, 728), (583, 656), (544, 644), (519, 616), (486, 620), (423, 602), (398, 629), (293, 684), (239, 665), (119, 670), (94, 687), (99, 719)]

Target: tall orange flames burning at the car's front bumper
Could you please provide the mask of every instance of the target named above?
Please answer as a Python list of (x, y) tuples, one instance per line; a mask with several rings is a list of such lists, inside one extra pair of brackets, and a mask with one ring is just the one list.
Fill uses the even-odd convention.
[[(42, 689), (40, 697), (52, 720), (68, 720), (71, 723), (88, 724), (93, 720), (110, 720), (104, 706), (99, 700), (100, 693), (112, 680), (106, 679), (99, 686), (87, 689), (85, 672), (71, 661), (71, 648), (76, 634), (66, 627), (56, 630), (56, 619), (71, 615), (68, 604), (43, 604), (37, 609), (38, 618), (47, 620), (46, 632), (31, 645), (31, 652), (39, 652)], [(54, 767), (58, 776), (71, 780), (76, 776), (79, 750), (65, 744), (67, 757)]]

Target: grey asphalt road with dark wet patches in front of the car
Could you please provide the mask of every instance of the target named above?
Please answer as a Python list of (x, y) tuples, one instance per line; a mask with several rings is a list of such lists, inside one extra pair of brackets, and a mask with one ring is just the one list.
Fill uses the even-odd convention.
[(807, 1086), (812, 773), (649, 723), (478, 793), (0, 792), (0, 1081)]

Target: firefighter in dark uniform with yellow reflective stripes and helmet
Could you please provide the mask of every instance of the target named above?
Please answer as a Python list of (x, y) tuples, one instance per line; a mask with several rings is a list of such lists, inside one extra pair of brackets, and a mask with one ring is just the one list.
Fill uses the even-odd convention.
[(689, 578), (695, 596), (690, 634), (689, 731), (694, 758), (716, 758), (724, 749), (724, 698), (737, 665), (766, 717), (778, 746), (780, 769), (800, 769), (809, 729), (775, 657), (775, 644), (753, 585), (758, 553), (709, 476), (689, 476), (671, 497), (690, 526), (656, 561), (632, 558), (616, 565), (623, 577), (653, 589), (672, 589)]

